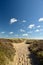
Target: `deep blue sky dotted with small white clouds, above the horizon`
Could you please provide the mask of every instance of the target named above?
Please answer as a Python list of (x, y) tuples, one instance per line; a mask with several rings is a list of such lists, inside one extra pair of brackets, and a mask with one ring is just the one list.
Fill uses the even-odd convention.
[(43, 0), (0, 0), (0, 38), (43, 38)]

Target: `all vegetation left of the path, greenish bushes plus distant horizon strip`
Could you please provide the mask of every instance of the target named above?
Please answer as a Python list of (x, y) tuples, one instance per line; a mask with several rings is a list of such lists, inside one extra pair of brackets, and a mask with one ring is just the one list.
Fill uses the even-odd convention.
[[(9, 65), (12, 62), (16, 50), (13, 47), (13, 43), (21, 43), (25, 39), (1, 39), (0, 38), (0, 65)], [(11, 64), (10, 64), (11, 65)]]

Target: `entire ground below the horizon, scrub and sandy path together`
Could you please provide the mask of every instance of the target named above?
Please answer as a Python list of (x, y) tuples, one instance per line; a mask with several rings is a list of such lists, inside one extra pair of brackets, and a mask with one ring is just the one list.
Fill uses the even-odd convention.
[(15, 62), (18, 61), (16, 63), (19, 65), (43, 65), (43, 40), (0, 39), (0, 65), (16, 65), (15, 62), (9, 63), (13, 62), (15, 56)]

